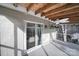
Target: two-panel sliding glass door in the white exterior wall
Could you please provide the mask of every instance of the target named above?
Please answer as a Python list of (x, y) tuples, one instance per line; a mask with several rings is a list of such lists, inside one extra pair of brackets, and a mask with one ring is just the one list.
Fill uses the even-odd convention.
[(36, 24), (36, 23), (26, 23), (26, 43), (27, 43), (27, 49), (30, 49), (36, 45), (40, 45), (41, 40), (41, 34), (42, 34), (42, 28), (43, 25)]

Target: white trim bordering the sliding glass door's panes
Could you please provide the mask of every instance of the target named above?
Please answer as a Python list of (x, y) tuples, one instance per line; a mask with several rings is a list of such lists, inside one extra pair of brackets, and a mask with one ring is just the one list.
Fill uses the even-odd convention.
[[(27, 23), (34, 23), (35, 24), (35, 33), (36, 33), (36, 28), (37, 28), (37, 24), (41, 24), (41, 25), (43, 25), (43, 30), (44, 30), (44, 24), (43, 23), (39, 23), (39, 22), (33, 22), (33, 21), (24, 21), (24, 23), (25, 23), (25, 30), (24, 30), (24, 50), (27, 52), (27, 51), (29, 51), (29, 50), (32, 50), (33, 48), (35, 48), (35, 47), (37, 47), (38, 45), (37, 45), (37, 40), (35, 39), (35, 46), (34, 47), (32, 47), (32, 48), (30, 48), (30, 49), (27, 49), (27, 40), (26, 40), (26, 38), (27, 38), (27, 36), (26, 36), (26, 34), (27, 34)], [(36, 38), (36, 36), (35, 36), (35, 38)], [(41, 42), (42, 43), (42, 42)], [(41, 45), (41, 44), (40, 44)], [(39, 46), (40, 46), (39, 45)]]

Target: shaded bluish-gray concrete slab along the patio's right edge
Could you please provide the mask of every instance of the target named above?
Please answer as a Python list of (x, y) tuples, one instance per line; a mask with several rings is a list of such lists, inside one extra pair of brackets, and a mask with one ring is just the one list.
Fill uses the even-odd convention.
[(56, 45), (59, 49), (61, 49), (62, 51), (64, 51), (66, 54), (68, 54), (70, 56), (79, 56), (79, 50), (72, 49), (68, 46), (61, 45), (61, 44), (56, 43), (56, 42), (52, 42), (52, 44)]

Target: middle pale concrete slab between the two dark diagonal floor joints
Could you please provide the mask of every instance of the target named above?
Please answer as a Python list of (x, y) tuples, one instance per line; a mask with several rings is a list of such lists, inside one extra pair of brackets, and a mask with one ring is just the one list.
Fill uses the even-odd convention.
[(51, 43), (43, 46), (49, 56), (67, 56), (66, 53), (59, 50), (57, 47), (52, 45)]

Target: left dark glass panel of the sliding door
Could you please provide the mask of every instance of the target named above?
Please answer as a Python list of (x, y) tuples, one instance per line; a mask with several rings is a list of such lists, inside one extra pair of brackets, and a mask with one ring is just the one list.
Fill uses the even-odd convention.
[(27, 23), (27, 49), (35, 46), (35, 24)]

